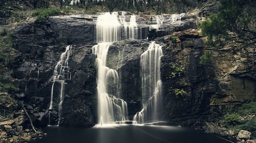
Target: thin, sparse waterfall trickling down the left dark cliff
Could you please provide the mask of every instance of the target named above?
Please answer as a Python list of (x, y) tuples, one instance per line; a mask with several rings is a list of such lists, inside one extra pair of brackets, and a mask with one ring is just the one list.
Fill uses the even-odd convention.
[[(49, 110), (52, 111), (54, 109), (53, 105), (53, 91), (54, 91), (54, 85), (56, 83), (60, 84), (59, 88), (59, 104), (58, 104), (58, 117), (59, 120), (61, 118), (61, 108), (62, 108), (62, 102), (63, 102), (63, 95), (65, 91), (65, 80), (71, 79), (71, 72), (69, 71), (69, 56), (71, 53), (71, 48), (72, 46), (67, 46), (65, 52), (63, 52), (60, 55), (60, 59), (57, 63), (57, 65), (54, 68), (53, 71), (53, 84), (52, 84), (52, 90), (51, 90), (51, 102), (50, 102), (50, 107)], [(56, 83), (55, 83), (56, 82)], [(49, 113), (49, 124), (50, 124), (50, 117), (51, 113)], [(59, 122), (58, 122), (59, 124)]]

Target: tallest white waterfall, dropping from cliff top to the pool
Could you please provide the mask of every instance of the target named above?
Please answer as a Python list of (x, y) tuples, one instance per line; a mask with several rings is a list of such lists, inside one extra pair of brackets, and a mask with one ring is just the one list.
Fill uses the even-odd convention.
[(118, 13), (113, 12), (99, 15), (96, 22), (96, 42), (98, 44), (94, 45), (92, 49), (93, 53), (97, 55), (99, 125), (127, 120), (127, 103), (121, 99), (119, 94), (120, 79), (118, 73), (106, 66), (110, 45), (112, 42), (122, 39), (122, 26), (126, 22), (125, 19), (121, 19), (121, 21), (123, 25), (118, 20)]

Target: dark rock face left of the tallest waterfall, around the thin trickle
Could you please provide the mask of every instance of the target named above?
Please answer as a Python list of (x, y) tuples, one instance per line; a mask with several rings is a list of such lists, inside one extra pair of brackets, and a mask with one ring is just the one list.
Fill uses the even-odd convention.
[[(33, 115), (35, 123), (38, 123), (36, 125), (48, 124), (47, 109), (50, 106), (53, 84), (51, 77), (60, 54), (65, 51), (67, 45), (76, 46), (73, 46), (71, 51), (72, 60), (69, 65), (72, 80), (66, 81), (65, 84), (67, 100), (63, 102), (63, 122), (60, 124), (94, 125), (96, 70), (95, 55), (91, 53), (91, 47), (95, 44), (93, 18), (55, 16), (44, 23), (34, 21), (33, 18), (29, 19), (14, 32), (14, 47), (20, 52), (17, 56), (18, 66), (14, 71), (17, 80), (14, 83), (25, 93), (22, 99), (33, 105), (29, 112)], [(58, 94), (58, 91), (54, 91), (56, 100)], [(34, 111), (34, 108), (37, 110)], [(72, 116), (75, 114), (76, 117)]]

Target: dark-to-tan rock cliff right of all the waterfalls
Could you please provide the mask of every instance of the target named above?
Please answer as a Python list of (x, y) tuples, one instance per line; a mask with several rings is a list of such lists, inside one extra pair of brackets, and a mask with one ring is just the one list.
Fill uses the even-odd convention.
[[(200, 64), (200, 56), (205, 49), (200, 34), (196, 30), (187, 30), (165, 37), (166, 46), (162, 57), (162, 81), (164, 86), (165, 107), (164, 119), (170, 122), (182, 122), (184, 125), (198, 120), (211, 121), (212, 113), (218, 113), (225, 108), (233, 108), (241, 103), (255, 99), (255, 79), (245, 76), (233, 76), (218, 62), (230, 61), (230, 56), (221, 56), (212, 61), (211, 65)], [(218, 54), (218, 51), (212, 51)], [(246, 67), (246, 64), (241, 64)], [(184, 72), (173, 75), (176, 67), (185, 67)], [(243, 69), (243, 66), (240, 68)], [(247, 65), (249, 66), (249, 65)], [(240, 70), (239, 70), (240, 71)], [(243, 70), (242, 70), (243, 71)], [(241, 72), (241, 71), (240, 71)], [(229, 76), (223, 85), (219, 75)], [(241, 74), (240, 74), (241, 75)], [(245, 82), (243, 86), (241, 80)], [(236, 84), (233, 84), (236, 83)], [(229, 87), (229, 88), (227, 88)], [(174, 89), (183, 89), (186, 95), (176, 98)], [(231, 91), (231, 92), (230, 92)]]

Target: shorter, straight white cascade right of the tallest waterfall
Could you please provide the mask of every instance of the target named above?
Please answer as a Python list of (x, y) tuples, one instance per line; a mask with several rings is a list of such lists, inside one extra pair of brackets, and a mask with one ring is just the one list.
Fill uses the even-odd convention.
[(133, 120), (138, 123), (160, 120), (157, 114), (161, 106), (162, 81), (160, 77), (162, 47), (152, 42), (147, 50), (141, 54), (141, 111), (137, 112)]

